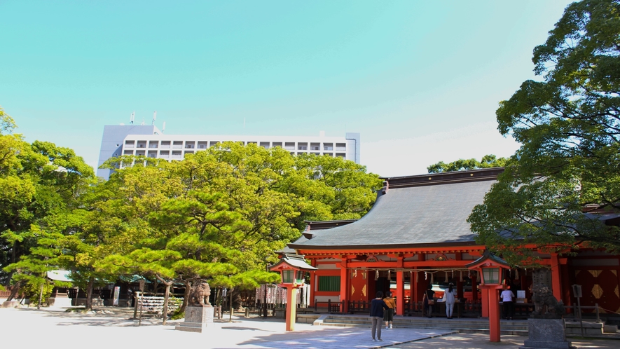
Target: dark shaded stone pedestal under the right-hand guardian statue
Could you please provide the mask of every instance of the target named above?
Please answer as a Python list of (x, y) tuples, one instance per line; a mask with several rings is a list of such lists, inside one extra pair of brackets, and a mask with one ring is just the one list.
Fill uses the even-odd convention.
[(574, 349), (566, 341), (564, 319), (528, 319), (529, 339), (519, 349)]

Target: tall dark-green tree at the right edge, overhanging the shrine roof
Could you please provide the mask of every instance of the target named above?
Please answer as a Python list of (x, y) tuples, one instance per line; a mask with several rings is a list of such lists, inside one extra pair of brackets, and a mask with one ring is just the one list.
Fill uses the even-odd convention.
[(522, 146), (471, 229), (515, 262), (529, 247), (617, 251), (620, 230), (600, 213), (620, 208), (620, 2), (567, 6), (532, 61), (542, 81), (525, 81), (496, 112), (502, 135)]

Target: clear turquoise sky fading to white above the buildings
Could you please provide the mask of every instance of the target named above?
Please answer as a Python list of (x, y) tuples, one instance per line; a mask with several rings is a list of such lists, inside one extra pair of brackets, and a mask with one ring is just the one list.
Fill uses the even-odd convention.
[(93, 166), (104, 125), (157, 111), (169, 135), (360, 132), (369, 171), (417, 175), (514, 153), (497, 103), (567, 4), (0, 0), (0, 105)]

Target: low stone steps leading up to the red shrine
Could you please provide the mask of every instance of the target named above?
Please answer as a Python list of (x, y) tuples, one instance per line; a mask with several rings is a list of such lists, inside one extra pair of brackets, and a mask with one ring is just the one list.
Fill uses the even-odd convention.
[[(372, 327), (370, 317), (367, 315), (322, 315), (315, 322), (319, 326), (336, 327)], [(383, 324), (383, 322), (382, 322)], [(415, 328), (415, 329), (446, 329), (460, 331), (461, 333), (488, 334), (488, 319), (473, 318), (453, 318), (446, 317), (394, 317), (392, 326), (395, 329)], [(528, 320), (502, 320), (500, 322), (502, 334), (512, 334), (517, 336), (528, 336)]]

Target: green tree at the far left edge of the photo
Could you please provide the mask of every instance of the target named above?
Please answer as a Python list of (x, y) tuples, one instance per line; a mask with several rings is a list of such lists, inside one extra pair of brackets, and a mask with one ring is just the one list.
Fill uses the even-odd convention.
[[(28, 144), (15, 135), (12, 119), (3, 114), (0, 135), (0, 265), (17, 263), (37, 245), (32, 226), (50, 214), (75, 207), (94, 180), (92, 167), (71, 149), (49, 142)], [(0, 273), (8, 285), (13, 271)], [(22, 282), (16, 280), (17, 287)]]

